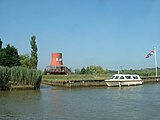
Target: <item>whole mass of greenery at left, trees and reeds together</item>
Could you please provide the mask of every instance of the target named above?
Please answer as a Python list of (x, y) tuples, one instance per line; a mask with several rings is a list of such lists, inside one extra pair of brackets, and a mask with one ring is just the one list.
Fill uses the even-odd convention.
[(13, 45), (3, 47), (0, 39), (0, 90), (9, 89), (11, 85), (33, 85), (40, 87), (42, 72), (37, 70), (38, 48), (36, 36), (30, 40), (31, 55), (19, 55)]

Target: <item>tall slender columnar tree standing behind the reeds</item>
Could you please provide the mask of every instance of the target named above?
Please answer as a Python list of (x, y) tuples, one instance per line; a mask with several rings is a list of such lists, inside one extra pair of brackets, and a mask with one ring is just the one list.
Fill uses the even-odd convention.
[(38, 64), (38, 49), (36, 45), (36, 36), (31, 37), (31, 68), (37, 69), (37, 64)]

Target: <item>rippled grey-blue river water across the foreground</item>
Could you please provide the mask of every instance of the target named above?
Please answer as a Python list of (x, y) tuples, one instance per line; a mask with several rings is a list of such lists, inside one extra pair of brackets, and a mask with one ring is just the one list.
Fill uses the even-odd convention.
[(0, 120), (160, 120), (160, 84), (0, 91)]

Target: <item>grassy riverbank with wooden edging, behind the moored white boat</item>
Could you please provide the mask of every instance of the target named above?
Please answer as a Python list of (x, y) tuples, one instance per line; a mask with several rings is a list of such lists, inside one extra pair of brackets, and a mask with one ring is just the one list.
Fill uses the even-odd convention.
[[(90, 87), (106, 86), (105, 79), (112, 75), (46, 75), (43, 76), (42, 84), (60, 87)], [(141, 77), (145, 83), (160, 82), (160, 77)]]

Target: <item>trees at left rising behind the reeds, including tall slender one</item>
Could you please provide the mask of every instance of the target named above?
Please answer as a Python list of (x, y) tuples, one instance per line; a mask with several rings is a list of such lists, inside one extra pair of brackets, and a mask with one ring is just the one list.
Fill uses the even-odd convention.
[(2, 45), (3, 41), (0, 39), (0, 66), (22, 66), (31, 69), (37, 69), (38, 48), (36, 44), (36, 36), (32, 36), (30, 40), (31, 55), (19, 55), (17, 48), (13, 45), (7, 44), (7, 46), (4, 48)]

